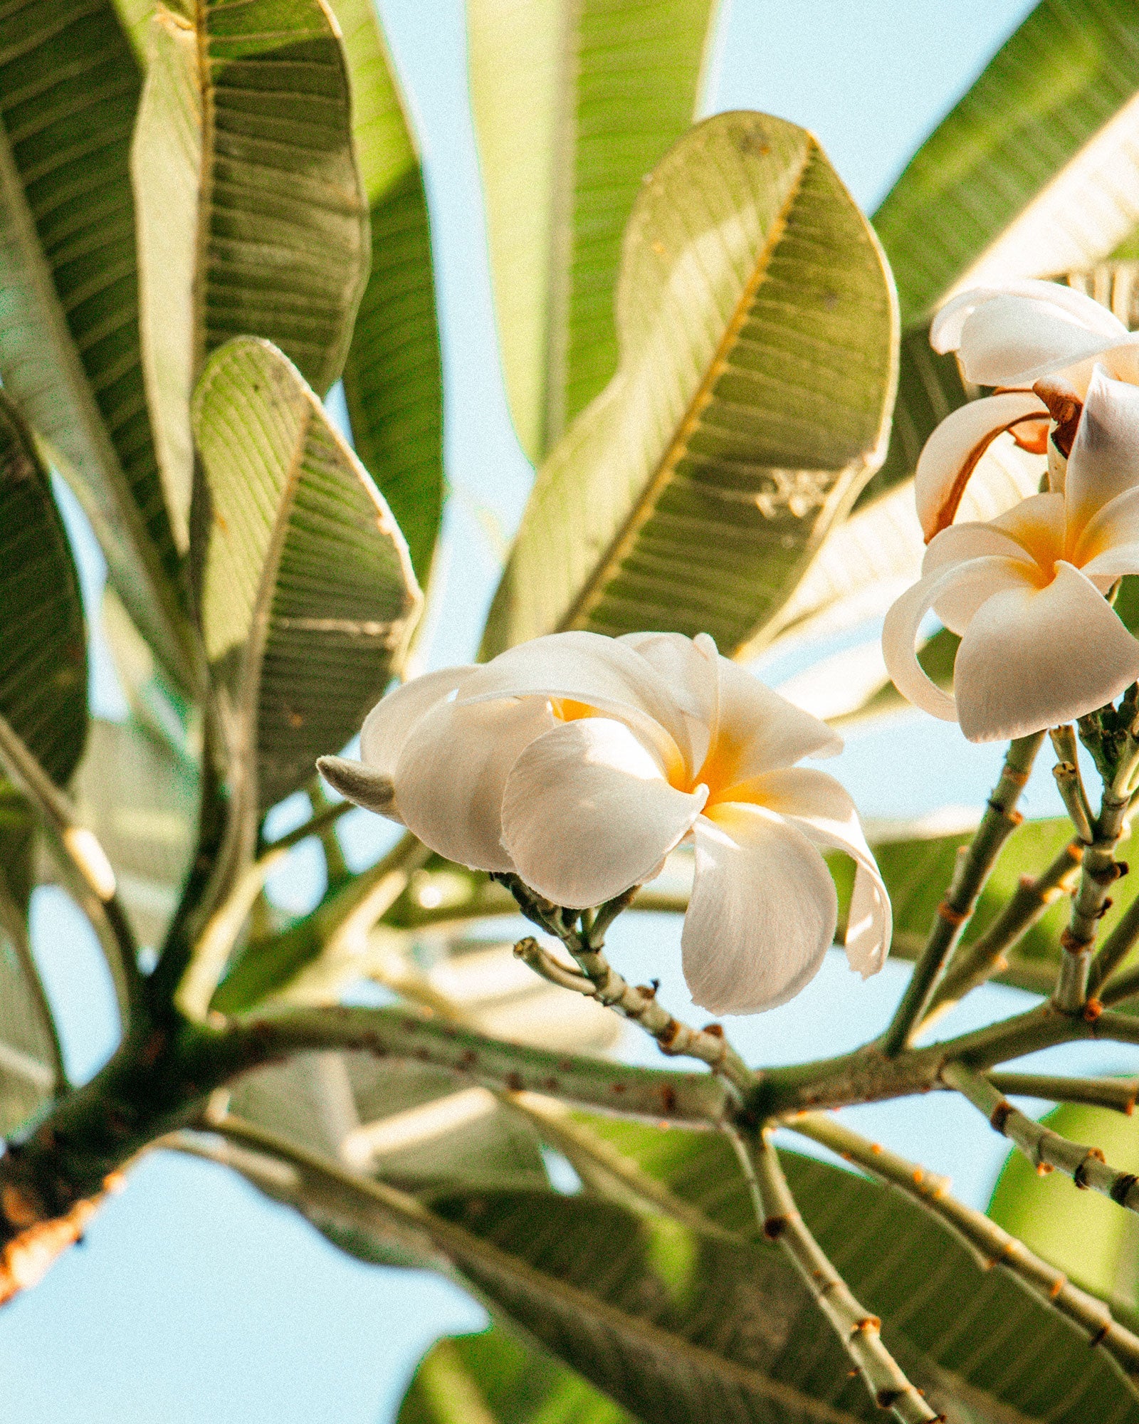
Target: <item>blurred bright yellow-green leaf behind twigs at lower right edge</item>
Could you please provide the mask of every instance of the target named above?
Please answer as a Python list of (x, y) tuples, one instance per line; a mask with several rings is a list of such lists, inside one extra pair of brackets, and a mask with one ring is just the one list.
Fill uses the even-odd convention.
[[(1042, 1121), (1066, 1138), (1095, 1143), (1112, 1166), (1139, 1172), (1139, 1126), (1133, 1118), (1064, 1104)], [(1014, 1151), (1001, 1169), (988, 1215), (1078, 1284), (1135, 1319), (1139, 1222), (1132, 1212), (1096, 1192), (1081, 1192), (1059, 1172), (1038, 1176), (1032, 1163)]]

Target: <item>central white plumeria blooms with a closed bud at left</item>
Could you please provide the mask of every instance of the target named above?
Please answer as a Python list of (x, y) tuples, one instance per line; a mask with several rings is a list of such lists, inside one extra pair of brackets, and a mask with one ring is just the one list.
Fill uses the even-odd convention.
[(369, 713), (362, 762), (317, 765), (448, 860), (574, 909), (652, 879), (691, 837), (685, 978), (703, 1008), (747, 1014), (797, 994), (834, 938), (819, 846), (857, 864), (851, 968), (886, 958), (890, 901), (854, 803), (793, 765), (840, 748), (706, 634), (562, 632), (404, 684)]

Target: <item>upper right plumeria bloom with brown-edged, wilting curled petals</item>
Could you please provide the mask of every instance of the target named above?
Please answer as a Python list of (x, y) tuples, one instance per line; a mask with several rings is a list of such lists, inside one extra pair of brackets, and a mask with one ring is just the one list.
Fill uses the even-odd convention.
[[(1055, 282), (962, 292), (938, 312), (930, 342), (957, 352), (967, 380), (999, 389), (954, 410), (921, 451), (914, 493), (927, 541), (952, 523), (978, 460), (1002, 431), (1042, 454), (1051, 416), (1066, 456), (1096, 365), (1139, 384), (1139, 336), (1091, 296)], [(1059, 491), (1062, 459), (1049, 456), (1051, 487)]]

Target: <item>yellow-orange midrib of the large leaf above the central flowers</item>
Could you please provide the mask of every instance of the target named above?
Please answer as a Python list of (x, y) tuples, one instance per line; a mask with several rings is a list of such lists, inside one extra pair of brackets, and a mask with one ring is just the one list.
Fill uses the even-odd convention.
[[(571, 602), (570, 608), (562, 614), (558, 621), (557, 629), (564, 632), (568, 628), (581, 628), (588, 619), (589, 614), (601, 604), (605, 597), (605, 590), (609, 581), (616, 575), (621, 564), (631, 553), (636, 535), (652, 518), (656, 508), (656, 503), (668, 487), (669, 480), (676, 471), (676, 466), (683, 459), (688, 450), (688, 441), (693, 431), (700, 423), (700, 417), (705, 410), (712, 404), (715, 384), (728, 366), (729, 356), (739, 340), (740, 332), (747, 320), (747, 313), (752, 308), (756, 293), (767, 278), (767, 271), (772, 263), (772, 258), (783, 238), (787, 228), (787, 221), (790, 218), (792, 209), (794, 208), (799, 194), (803, 188), (803, 179), (807, 169), (812, 167), (817, 157), (817, 145), (813, 138), (807, 138), (803, 150), (803, 158), (799, 164), (799, 171), (794, 174), (794, 179), (789, 187), (787, 197), (779, 212), (772, 221), (770, 231), (763, 242), (763, 248), (756, 258), (755, 268), (743, 286), (743, 290), (736, 300), (732, 310), (732, 316), (728, 320), (723, 336), (720, 337), (716, 350), (708, 363), (696, 392), (688, 403), (683, 419), (669, 439), (661, 459), (656, 463), (656, 468), (648, 483), (641, 498), (634, 504), (634, 507), (626, 514), (616, 531), (614, 538), (609, 541), (608, 548), (602, 554), (601, 560), (594, 568), (594, 572), (582, 585), (577, 598)], [(624, 356), (624, 353), (622, 353)]]

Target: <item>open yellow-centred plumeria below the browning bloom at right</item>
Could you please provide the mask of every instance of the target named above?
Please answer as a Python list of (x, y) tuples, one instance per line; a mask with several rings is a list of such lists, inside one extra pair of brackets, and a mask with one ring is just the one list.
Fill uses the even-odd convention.
[[(971, 742), (1027, 736), (1116, 698), (1139, 678), (1139, 641), (1103, 597), (1139, 572), (1139, 389), (1096, 367), (1064, 493), (943, 530), (921, 572), (886, 615), (886, 665), (900, 692)], [(931, 608), (961, 634), (952, 696), (914, 655)]]

